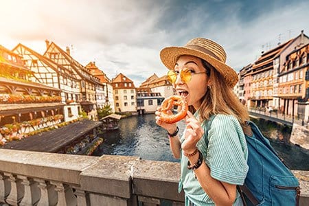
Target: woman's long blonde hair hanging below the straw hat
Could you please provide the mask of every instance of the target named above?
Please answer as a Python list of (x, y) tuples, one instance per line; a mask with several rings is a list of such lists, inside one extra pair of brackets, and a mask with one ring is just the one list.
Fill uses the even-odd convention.
[[(202, 98), (199, 110), (200, 121), (209, 119), (211, 115), (224, 114), (235, 116), (242, 128), (247, 128), (245, 122), (249, 120), (247, 108), (238, 100), (233, 89), (228, 86), (225, 79), (220, 75), (214, 67), (202, 59), (203, 66), (210, 69), (211, 85), (207, 88), (207, 92)], [(190, 111), (195, 112), (193, 106), (190, 106)]]

